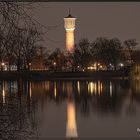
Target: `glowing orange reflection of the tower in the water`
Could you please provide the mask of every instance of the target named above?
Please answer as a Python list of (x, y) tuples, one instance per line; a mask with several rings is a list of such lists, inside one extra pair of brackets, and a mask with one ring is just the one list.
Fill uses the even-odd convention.
[(66, 137), (76, 138), (78, 137), (78, 133), (77, 133), (76, 110), (75, 110), (75, 101), (73, 97), (72, 83), (67, 83), (66, 89), (68, 95)]

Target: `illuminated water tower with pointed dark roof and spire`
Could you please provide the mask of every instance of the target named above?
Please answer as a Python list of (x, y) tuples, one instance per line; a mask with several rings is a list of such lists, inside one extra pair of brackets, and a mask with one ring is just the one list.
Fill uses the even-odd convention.
[(76, 18), (73, 17), (69, 10), (69, 15), (64, 18), (64, 26), (66, 30), (66, 50), (70, 53), (74, 51), (74, 30)]

